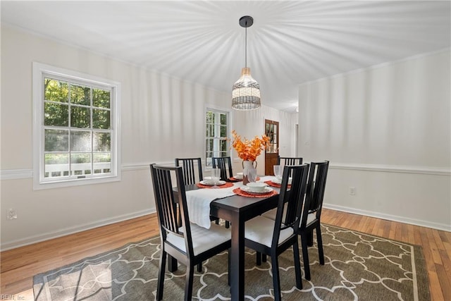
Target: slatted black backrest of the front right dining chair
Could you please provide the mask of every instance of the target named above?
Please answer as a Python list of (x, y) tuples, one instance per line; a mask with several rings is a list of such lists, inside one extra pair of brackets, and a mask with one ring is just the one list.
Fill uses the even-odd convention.
[[(307, 175), (309, 164), (285, 166), (280, 187), (279, 201), (276, 214), (273, 244), (278, 243), (280, 231), (292, 227), (297, 233), (301, 217), (304, 195), (307, 190)], [(292, 176), (290, 189), (288, 180)], [(285, 205), (286, 204), (286, 205)]]

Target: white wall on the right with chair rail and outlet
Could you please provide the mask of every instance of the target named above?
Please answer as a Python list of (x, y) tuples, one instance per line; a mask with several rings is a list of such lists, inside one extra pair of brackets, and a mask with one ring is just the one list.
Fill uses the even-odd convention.
[(451, 231), (450, 66), (445, 49), (299, 86), (299, 155), (330, 160), (325, 207)]

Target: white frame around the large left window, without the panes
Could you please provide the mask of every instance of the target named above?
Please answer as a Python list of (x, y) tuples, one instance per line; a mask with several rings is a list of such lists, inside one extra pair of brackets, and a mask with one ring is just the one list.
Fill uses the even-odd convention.
[[(33, 62), (33, 189), (61, 188), (121, 180), (121, 83)], [(44, 77), (111, 89), (111, 173), (79, 178), (44, 178)]]

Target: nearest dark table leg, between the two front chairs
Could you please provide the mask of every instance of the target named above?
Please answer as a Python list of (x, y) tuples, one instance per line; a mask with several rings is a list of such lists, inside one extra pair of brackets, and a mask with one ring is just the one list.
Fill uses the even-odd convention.
[(232, 300), (245, 300), (245, 222), (238, 216), (232, 219), (232, 247), (230, 263), (230, 287)]

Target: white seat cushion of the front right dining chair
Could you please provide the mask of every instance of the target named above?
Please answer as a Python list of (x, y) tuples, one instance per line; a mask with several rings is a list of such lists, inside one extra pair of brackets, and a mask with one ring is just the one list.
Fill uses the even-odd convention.
[[(259, 242), (261, 245), (271, 247), (274, 232), (274, 220), (264, 216), (257, 216), (245, 224), (245, 238)], [(293, 229), (280, 231), (279, 244), (292, 235)]]

